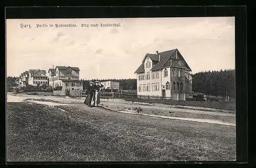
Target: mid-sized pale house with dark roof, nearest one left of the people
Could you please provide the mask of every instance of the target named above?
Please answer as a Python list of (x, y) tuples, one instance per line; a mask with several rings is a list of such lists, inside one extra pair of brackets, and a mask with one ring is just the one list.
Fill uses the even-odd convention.
[(82, 90), (83, 81), (79, 80), (78, 67), (71, 66), (56, 66), (54, 69), (50, 68), (49, 86), (62, 86), (62, 90)]

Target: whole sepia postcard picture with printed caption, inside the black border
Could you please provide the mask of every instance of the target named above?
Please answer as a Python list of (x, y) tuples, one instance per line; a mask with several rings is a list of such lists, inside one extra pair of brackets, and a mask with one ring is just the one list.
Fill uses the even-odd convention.
[(234, 17), (6, 19), (6, 155), (234, 161)]

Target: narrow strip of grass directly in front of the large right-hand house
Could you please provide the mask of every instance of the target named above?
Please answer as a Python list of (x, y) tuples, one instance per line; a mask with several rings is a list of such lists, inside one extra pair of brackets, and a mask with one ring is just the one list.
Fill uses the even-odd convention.
[(126, 101), (146, 102), (146, 103), (162, 103), (168, 105), (179, 106), (195, 106), (217, 108), (225, 110), (236, 110), (236, 102), (210, 102), (210, 101), (173, 101), (173, 100), (157, 100), (157, 99), (131, 99), (123, 98)]

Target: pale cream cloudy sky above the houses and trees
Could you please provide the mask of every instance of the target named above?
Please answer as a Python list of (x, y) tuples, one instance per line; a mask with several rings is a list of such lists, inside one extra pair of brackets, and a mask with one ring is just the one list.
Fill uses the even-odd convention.
[[(56, 28), (56, 23), (77, 27)], [(99, 27), (90, 27), (96, 23)], [(234, 17), (7, 19), (7, 76), (59, 65), (79, 67), (84, 80), (136, 78), (146, 53), (172, 49), (180, 51), (193, 74), (233, 69), (234, 37)]]

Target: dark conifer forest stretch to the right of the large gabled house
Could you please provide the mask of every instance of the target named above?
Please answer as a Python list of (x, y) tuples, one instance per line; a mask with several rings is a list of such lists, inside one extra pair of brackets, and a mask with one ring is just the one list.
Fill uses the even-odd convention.
[(236, 95), (236, 71), (225, 69), (220, 71), (204, 71), (192, 75), (194, 92), (211, 95)]

